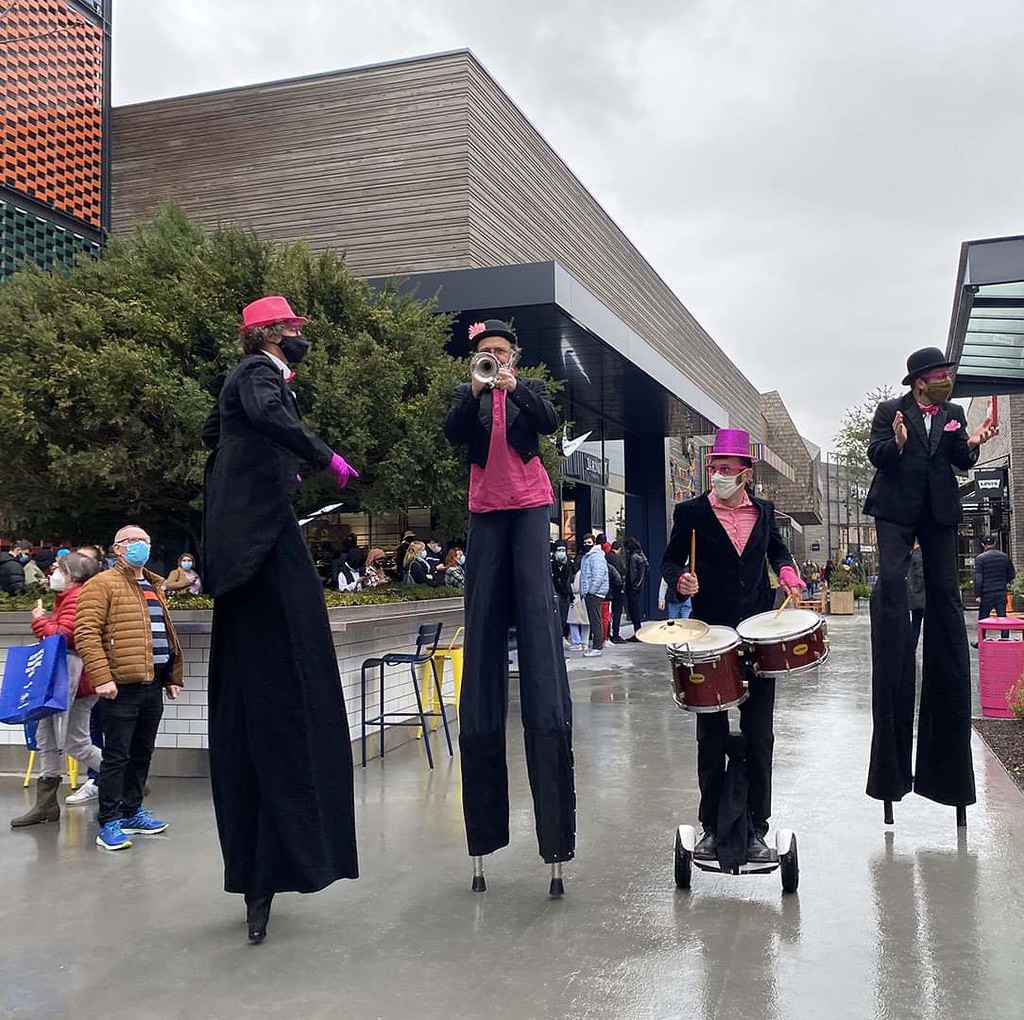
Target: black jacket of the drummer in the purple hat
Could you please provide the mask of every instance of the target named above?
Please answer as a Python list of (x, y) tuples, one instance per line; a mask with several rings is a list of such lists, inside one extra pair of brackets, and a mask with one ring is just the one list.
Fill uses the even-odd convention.
[(669, 591), (675, 591), (690, 557), (690, 535), (696, 532), (700, 591), (693, 596), (693, 617), (706, 624), (735, 627), (748, 617), (767, 612), (775, 601), (768, 564), (776, 573), (786, 565), (796, 567), (775, 523), (775, 507), (754, 497), (751, 502), (760, 517), (742, 556), (718, 522), (707, 493), (676, 505), (672, 536), (662, 560), (662, 577)]

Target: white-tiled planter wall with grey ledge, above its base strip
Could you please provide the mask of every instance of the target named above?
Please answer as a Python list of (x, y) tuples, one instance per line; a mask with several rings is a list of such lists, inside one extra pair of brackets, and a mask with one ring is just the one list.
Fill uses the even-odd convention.
[[(384, 607), (394, 611), (393, 607)], [(409, 606), (409, 615), (378, 620), (351, 620), (352, 615), (366, 615), (348, 609), (331, 610), (333, 625), (341, 627), (334, 634), (334, 645), (338, 655), (338, 670), (341, 674), (345, 707), (348, 712), (348, 726), (353, 740), (359, 737), (359, 667), (364, 660), (380, 656), (387, 651), (411, 651), (416, 640), (417, 628), (421, 624), (441, 622), (441, 647), (443, 647), (462, 626), (461, 604), (447, 602), (444, 606), (430, 604)], [(157, 734), (158, 748), (206, 748), (207, 742), (207, 660), (210, 654), (209, 613), (196, 613), (195, 622), (182, 623), (178, 637), (181, 642), (185, 667), (185, 688), (178, 700), (165, 703), (164, 718)], [(4, 619), (7, 618), (7, 619)], [(24, 618), (24, 619), (22, 619)], [(4, 613), (0, 618), (0, 677), (6, 663), (7, 649), (16, 644), (32, 644), (28, 625), (28, 614)], [(378, 674), (368, 675), (367, 715), (372, 717), (379, 711)], [(432, 678), (428, 676), (428, 679)], [(421, 684), (421, 690), (424, 690)], [(445, 666), (442, 689), (446, 700), (453, 700), (451, 664)], [(409, 675), (409, 667), (390, 667), (385, 683), (385, 709), (389, 712), (415, 712), (416, 696)], [(5, 726), (0, 723), (0, 743), (22, 743), (24, 733), (20, 726)]]

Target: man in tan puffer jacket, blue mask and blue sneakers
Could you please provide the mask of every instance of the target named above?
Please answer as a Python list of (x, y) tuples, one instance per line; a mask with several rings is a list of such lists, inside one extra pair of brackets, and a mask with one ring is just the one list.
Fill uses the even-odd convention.
[(163, 691), (181, 689), (181, 647), (161, 594), (163, 578), (143, 569), (150, 536), (134, 524), (114, 538), (117, 565), (82, 589), (75, 643), (99, 695), (103, 763), (99, 770), (99, 834), (104, 850), (131, 846), (128, 835), (155, 835), (167, 822), (142, 807), (142, 794)]

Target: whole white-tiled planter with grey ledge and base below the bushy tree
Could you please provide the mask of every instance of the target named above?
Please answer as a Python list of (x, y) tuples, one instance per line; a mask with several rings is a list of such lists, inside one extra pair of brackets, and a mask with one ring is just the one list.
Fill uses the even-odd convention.
[[(387, 651), (411, 651), (421, 626), (441, 624), (440, 646), (444, 647), (463, 625), (463, 600), (439, 598), (419, 602), (391, 602), (384, 605), (349, 605), (329, 609), (331, 632), (338, 656), (338, 671), (345, 693), (348, 725), (353, 752), (358, 754), (359, 674), (364, 660)], [(197, 776), (209, 772), (207, 740), (207, 667), (210, 657), (210, 609), (171, 607), (171, 619), (181, 641), (184, 656), (184, 684), (178, 700), (165, 703), (164, 718), (157, 734), (154, 775)], [(33, 644), (28, 612), (0, 613), (0, 676), (7, 658), (7, 648)], [(451, 697), (451, 674), (444, 678), (444, 690)], [(416, 711), (416, 695), (408, 669), (389, 670), (385, 690), (388, 711)], [(379, 691), (368, 691), (367, 715), (378, 713)], [(414, 727), (392, 727), (386, 739), (388, 748), (415, 739)], [(377, 734), (368, 741), (368, 754), (377, 755)], [(25, 736), (20, 726), (0, 724), (0, 771), (17, 772), (26, 765)]]

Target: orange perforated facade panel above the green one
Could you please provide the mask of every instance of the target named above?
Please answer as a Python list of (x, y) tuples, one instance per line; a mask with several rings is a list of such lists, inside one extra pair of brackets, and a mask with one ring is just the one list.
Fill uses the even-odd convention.
[(102, 32), (60, 0), (0, 9), (3, 183), (99, 227)]

